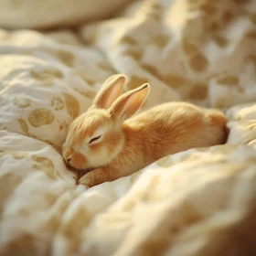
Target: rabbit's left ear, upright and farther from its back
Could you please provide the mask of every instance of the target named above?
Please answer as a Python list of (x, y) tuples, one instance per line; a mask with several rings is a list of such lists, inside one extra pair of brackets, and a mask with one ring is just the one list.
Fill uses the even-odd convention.
[(96, 95), (91, 108), (108, 109), (123, 92), (126, 76), (117, 74), (104, 81), (101, 90)]

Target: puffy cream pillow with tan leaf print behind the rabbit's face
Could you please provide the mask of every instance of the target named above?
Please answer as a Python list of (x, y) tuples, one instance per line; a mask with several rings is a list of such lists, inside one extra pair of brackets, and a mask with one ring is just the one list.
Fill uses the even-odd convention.
[(59, 149), (69, 123), (91, 106), (114, 71), (93, 48), (59, 44), (26, 30), (5, 31), (5, 36), (0, 40), (0, 130)]

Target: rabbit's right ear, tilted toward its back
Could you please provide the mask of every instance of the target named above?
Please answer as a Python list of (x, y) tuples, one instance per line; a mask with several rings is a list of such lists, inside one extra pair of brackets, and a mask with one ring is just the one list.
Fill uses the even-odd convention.
[(149, 92), (149, 84), (145, 83), (142, 86), (128, 91), (120, 96), (112, 103), (109, 112), (113, 118), (124, 120), (130, 118), (139, 110)]

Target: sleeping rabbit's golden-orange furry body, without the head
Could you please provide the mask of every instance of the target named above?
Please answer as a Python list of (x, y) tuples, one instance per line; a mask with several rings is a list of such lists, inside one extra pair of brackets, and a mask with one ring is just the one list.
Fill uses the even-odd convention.
[(226, 123), (221, 112), (187, 102), (161, 104), (123, 123), (123, 149), (109, 168), (115, 166), (122, 176), (128, 176), (165, 155), (223, 144)]

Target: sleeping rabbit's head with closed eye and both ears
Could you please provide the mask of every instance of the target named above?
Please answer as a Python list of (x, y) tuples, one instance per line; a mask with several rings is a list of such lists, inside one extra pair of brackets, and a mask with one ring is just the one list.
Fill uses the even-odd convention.
[(68, 165), (94, 169), (108, 165), (122, 151), (127, 136), (123, 122), (138, 111), (149, 91), (149, 84), (144, 84), (122, 95), (125, 81), (122, 74), (107, 79), (91, 108), (70, 124), (62, 148)]

